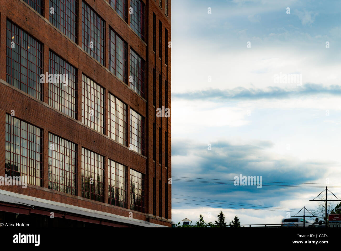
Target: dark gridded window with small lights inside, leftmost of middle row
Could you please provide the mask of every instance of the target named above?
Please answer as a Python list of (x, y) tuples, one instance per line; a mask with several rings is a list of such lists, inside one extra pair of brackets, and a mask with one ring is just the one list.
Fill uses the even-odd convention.
[(7, 20), (6, 82), (42, 100), (43, 44)]

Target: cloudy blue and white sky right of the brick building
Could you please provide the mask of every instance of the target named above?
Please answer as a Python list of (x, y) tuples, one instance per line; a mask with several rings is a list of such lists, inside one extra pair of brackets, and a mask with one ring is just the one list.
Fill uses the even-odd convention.
[[(279, 224), (316, 209), (309, 200), (325, 186), (341, 197), (340, 10), (341, 1), (172, 1), (175, 223), (214, 222), (222, 210), (227, 223)], [(262, 188), (234, 186), (239, 175), (262, 177)]]

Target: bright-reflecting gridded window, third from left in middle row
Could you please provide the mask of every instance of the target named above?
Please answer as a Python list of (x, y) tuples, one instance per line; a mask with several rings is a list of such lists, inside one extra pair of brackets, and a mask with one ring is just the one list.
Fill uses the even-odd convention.
[(104, 89), (83, 74), (82, 123), (104, 133)]

